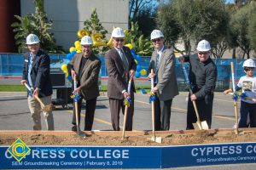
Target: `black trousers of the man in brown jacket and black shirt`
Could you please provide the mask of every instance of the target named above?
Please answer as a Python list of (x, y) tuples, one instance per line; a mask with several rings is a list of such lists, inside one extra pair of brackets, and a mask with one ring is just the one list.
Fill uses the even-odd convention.
[[(84, 117), (84, 130), (90, 131), (92, 128), (93, 120), (94, 120), (94, 113), (96, 110), (96, 101), (97, 98), (86, 100), (85, 106), (85, 117)], [(78, 101), (79, 107), (79, 124), (80, 124), (80, 117), (81, 117), (81, 109), (82, 109), (82, 99)], [(73, 103), (73, 120), (72, 124), (76, 125), (76, 112), (75, 112), (75, 103)]]

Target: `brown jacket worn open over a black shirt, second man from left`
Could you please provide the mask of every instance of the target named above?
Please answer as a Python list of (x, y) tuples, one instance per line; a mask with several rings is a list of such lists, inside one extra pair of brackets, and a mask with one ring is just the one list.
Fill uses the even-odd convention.
[[(70, 71), (73, 68), (78, 74), (82, 57), (82, 53), (75, 54), (73, 59), (68, 63), (68, 70)], [(98, 78), (101, 65), (102, 61), (96, 55), (90, 54), (84, 65), (80, 80), (81, 94), (85, 100), (94, 99), (100, 95)]]

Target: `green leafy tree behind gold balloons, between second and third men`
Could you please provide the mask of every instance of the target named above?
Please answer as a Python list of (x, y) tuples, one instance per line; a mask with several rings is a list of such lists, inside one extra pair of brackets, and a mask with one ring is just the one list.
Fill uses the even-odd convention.
[[(108, 33), (107, 30), (102, 26), (102, 23), (100, 23), (100, 20), (98, 18), (98, 14), (96, 12), (96, 8), (92, 9), (92, 13), (90, 14), (90, 19), (84, 21), (84, 30), (89, 31), (90, 34), (93, 33), (102, 33), (102, 38), (106, 37), (106, 34)], [(103, 54), (106, 52), (109, 48), (107, 46), (104, 47), (93, 47), (93, 53), (94, 54)]]

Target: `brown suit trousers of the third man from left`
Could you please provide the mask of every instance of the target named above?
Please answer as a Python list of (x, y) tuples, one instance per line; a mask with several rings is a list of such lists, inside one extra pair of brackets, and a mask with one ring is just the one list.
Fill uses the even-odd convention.
[[(111, 122), (114, 131), (119, 131), (119, 112), (122, 108), (123, 115), (125, 115), (124, 99), (109, 98), (109, 107), (111, 112)], [(132, 118), (134, 112), (134, 94), (131, 93), (131, 105), (128, 107), (125, 131), (132, 131)]]

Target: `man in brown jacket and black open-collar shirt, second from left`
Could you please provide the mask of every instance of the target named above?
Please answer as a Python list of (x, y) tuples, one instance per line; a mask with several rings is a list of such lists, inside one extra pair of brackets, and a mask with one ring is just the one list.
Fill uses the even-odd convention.
[[(96, 110), (96, 99), (100, 95), (98, 78), (101, 70), (102, 62), (91, 53), (92, 40), (89, 36), (84, 36), (81, 39), (82, 53), (75, 54), (73, 59), (68, 63), (68, 71), (74, 79), (76, 75), (78, 77), (78, 88), (73, 90), (73, 94), (76, 92), (80, 94), (79, 104), (79, 123), (80, 113), (82, 108), (82, 100), (86, 100), (86, 116), (84, 118), (84, 130), (90, 131), (92, 128), (94, 114)], [(73, 108), (73, 131), (77, 131), (76, 127), (76, 114), (75, 108)]]

